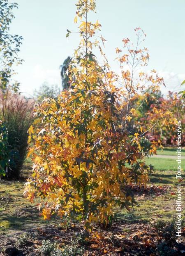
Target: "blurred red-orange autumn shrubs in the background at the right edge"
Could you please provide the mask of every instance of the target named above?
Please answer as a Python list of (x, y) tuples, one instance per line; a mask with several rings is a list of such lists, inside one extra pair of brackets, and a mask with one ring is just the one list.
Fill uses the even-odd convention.
[[(150, 141), (160, 140), (162, 145), (177, 145), (177, 131), (176, 120), (181, 121), (182, 130), (185, 130), (185, 100), (183, 97), (178, 96), (176, 92), (169, 92), (166, 97), (160, 95), (156, 98), (157, 95), (151, 95), (148, 93), (148, 102), (147, 111), (142, 112), (141, 122), (143, 126), (146, 126), (149, 122), (152, 122), (154, 114), (158, 115), (163, 112), (164, 108), (169, 110), (169, 113), (172, 114), (173, 118), (164, 119), (163, 126), (156, 126), (153, 131), (148, 134), (148, 139)], [(153, 99), (152, 99), (153, 97)], [(182, 135), (181, 145), (185, 145), (185, 135)]]

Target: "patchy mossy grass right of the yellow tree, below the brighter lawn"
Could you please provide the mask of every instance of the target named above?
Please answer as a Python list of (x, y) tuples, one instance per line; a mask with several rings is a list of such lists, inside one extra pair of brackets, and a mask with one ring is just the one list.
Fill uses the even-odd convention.
[(157, 219), (172, 220), (176, 213), (176, 195), (172, 193), (176, 192), (174, 171), (155, 171), (150, 175), (150, 183), (148, 185), (151, 184), (155, 186), (168, 185), (170, 188), (166, 194), (161, 194), (160, 196), (136, 196), (137, 204), (135, 204), (131, 212), (123, 209), (118, 212), (118, 219), (122, 219), (126, 223), (137, 223), (138, 221), (148, 223)]

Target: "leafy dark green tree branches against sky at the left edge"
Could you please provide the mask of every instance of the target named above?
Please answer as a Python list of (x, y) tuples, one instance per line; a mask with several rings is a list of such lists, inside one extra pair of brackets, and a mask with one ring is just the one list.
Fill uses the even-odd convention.
[(0, 89), (2, 91), (8, 86), (18, 90), (19, 84), (15, 82), (10, 86), (10, 79), (14, 73), (14, 65), (23, 61), (18, 57), (23, 38), (9, 33), (9, 26), (14, 19), (12, 12), (14, 8), (17, 8), (16, 3), (0, 0)]

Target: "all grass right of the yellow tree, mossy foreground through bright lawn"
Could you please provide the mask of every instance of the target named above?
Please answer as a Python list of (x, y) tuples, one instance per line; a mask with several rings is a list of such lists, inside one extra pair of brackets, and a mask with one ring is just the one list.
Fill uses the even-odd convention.
[[(171, 220), (175, 215), (176, 195), (176, 159), (170, 156), (176, 156), (176, 148), (165, 148), (163, 152), (157, 150), (157, 154), (169, 155), (169, 158), (146, 158), (146, 164), (152, 164), (155, 173), (150, 175), (150, 184), (155, 186), (170, 186), (166, 194), (160, 196), (137, 197), (138, 204), (129, 213), (126, 209), (118, 212), (118, 218), (128, 223), (136, 223), (138, 221), (150, 222), (152, 220), (162, 219), (164, 221)], [(185, 149), (182, 150), (182, 156), (185, 156)], [(181, 162), (182, 168), (185, 168), (184, 160)], [(172, 194), (171, 194), (172, 193)]]

